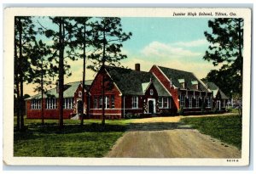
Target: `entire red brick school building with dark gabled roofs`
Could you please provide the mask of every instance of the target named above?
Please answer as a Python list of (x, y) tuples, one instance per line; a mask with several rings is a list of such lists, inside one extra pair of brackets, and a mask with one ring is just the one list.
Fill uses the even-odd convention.
[[(68, 119), (78, 115), (83, 107), (83, 92), (79, 81), (68, 83), (65, 88), (64, 118)], [(105, 66), (93, 81), (86, 81), (86, 90), (89, 96), (85, 95), (84, 113), (88, 109), (89, 118), (101, 118), (102, 104), (105, 104), (108, 119), (142, 114), (174, 115), (179, 109), (185, 113), (212, 110), (212, 91), (193, 73), (157, 65), (153, 65), (148, 72), (141, 71), (139, 64), (135, 70)], [(48, 93), (49, 97), (44, 99), (44, 118), (55, 119), (58, 118), (57, 89), (51, 89)], [(40, 95), (35, 95), (26, 100), (27, 118), (41, 117), (40, 98)]]

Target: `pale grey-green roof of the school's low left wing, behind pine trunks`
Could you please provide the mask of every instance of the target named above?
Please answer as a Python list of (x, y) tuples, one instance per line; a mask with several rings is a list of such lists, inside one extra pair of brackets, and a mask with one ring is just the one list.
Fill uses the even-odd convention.
[[(85, 81), (85, 89), (88, 90), (90, 87), (90, 84), (92, 83), (92, 81)], [(74, 93), (76, 92), (77, 88), (79, 87), (79, 85), (81, 84), (81, 81), (75, 81), (75, 82), (69, 82), (67, 84), (64, 85), (64, 88), (66, 89), (63, 92), (63, 97), (64, 98), (73, 98)], [(41, 93), (38, 93), (30, 98), (26, 98), (26, 99), (39, 99), (42, 98)], [(45, 95), (44, 95), (45, 98)], [(49, 89), (46, 93), (46, 98), (59, 98), (59, 93), (57, 93), (56, 87)]]

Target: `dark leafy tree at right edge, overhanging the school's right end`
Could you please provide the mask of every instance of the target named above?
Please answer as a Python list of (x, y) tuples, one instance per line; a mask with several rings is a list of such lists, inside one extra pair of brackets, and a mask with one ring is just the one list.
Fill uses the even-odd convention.
[[(240, 84), (239, 93), (241, 93), (243, 19), (218, 18), (209, 20), (208, 26), (212, 28), (212, 33), (205, 31), (205, 36), (211, 45), (203, 59), (212, 61), (213, 65), (223, 64), (222, 70), (219, 71), (220, 74), (223, 74), (224, 70), (230, 69), (234, 75), (233, 81), (238, 81)], [(223, 74), (223, 76), (230, 78), (229, 74)]]

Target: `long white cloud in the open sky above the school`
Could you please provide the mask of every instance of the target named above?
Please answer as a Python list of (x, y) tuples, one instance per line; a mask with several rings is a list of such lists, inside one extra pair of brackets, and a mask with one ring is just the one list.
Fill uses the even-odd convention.
[(141, 51), (143, 56), (148, 58), (181, 59), (200, 57), (202, 53), (193, 52), (182, 47), (175, 47), (171, 44), (151, 42)]

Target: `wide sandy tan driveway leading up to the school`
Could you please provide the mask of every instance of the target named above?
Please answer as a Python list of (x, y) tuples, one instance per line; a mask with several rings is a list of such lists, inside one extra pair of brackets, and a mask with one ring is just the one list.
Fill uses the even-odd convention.
[(241, 150), (178, 123), (177, 117), (134, 121), (107, 157), (241, 158)]

